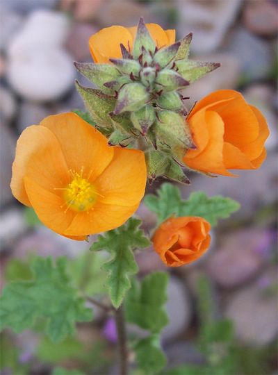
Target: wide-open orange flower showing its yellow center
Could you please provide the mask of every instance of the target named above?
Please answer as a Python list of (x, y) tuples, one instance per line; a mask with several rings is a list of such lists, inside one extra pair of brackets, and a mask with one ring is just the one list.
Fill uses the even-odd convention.
[(81, 117), (63, 113), (23, 131), (10, 187), (45, 226), (84, 240), (126, 222), (138, 208), (146, 181), (142, 151), (110, 147)]

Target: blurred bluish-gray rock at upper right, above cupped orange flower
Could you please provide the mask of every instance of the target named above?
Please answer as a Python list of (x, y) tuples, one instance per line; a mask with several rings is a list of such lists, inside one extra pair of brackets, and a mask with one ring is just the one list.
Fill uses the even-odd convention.
[(244, 81), (268, 76), (273, 58), (271, 46), (264, 40), (244, 28), (238, 28), (231, 34), (231, 40), (225, 50), (238, 58)]

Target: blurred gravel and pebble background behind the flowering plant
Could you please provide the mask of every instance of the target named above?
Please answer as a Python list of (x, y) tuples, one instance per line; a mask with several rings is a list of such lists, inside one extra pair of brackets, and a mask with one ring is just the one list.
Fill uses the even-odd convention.
[[(85, 85), (88, 81), (72, 62), (91, 61), (90, 35), (112, 24), (133, 26), (140, 16), (145, 22), (176, 28), (177, 38), (193, 32), (191, 57), (220, 62), (222, 67), (190, 85), (188, 108), (213, 90), (239, 90), (265, 115), (271, 133), (268, 158), (261, 169), (239, 172), (239, 178), (190, 174), (191, 185), (181, 186), (183, 197), (204, 190), (236, 199), (242, 208), (220, 223), (204, 258), (188, 267), (169, 269), (170, 325), (163, 333), (163, 344), (170, 365), (203, 363), (194, 345), (199, 327), (196, 281), (202, 274), (211, 281), (216, 314), (234, 322), (236, 340), (246, 356), (251, 353), (251, 364), (245, 363), (242, 373), (278, 374), (277, 4), (275, 0), (0, 0), (1, 284), (10, 259), (24, 259), (30, 251), (74, 257), (88, 248), (42, 226), (31, 227), (9, 183), (15, 142), (24, 128), (47, 115), (83, 109), (74, 78)], [(152, 191), (159, 183), (152, 185)], [(145, 228), (152, 229), (155, 218), (143, 204), (138, 215)], [(141, 274), (164, 268), (152, 249), (141, 253), (138, 262)], [(72, 339), (58, 349), (65, 356), (58, 356), (45, 340), (39, 346), (34, 333), (17, 337), (6, 333), (1, 346), (3, 374), (49, 374), (54, 363), (69, 368), (87, 363), (92, 374), (115, 374), (113, 330), (113, 321), (106, 321), (99, 312), (90, 329), (79, 328), (78, 342)], [(79, 353), (80, 342), (92, 342), (90, 359)], [(262, 367), (254, 365), (258, 353)], [(19, 364), (17, 372), (11, 369), (12, 363)]]

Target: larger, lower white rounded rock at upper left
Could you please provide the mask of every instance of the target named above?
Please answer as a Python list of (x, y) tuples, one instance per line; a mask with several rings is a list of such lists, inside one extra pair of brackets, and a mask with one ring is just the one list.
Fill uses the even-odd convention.
[(13, 89), (31, 101), (51, 101), (74, 85), (72, 58), (62, 49), (28, 49), (8, 64), (8, 81)]

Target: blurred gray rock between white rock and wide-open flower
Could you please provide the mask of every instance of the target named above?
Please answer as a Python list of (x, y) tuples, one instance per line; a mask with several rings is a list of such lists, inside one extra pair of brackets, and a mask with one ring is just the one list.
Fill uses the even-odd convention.
[(31, 101), (22, 101), (17, 117), (17, 129), (21, 133), (27, 126), (40, 124), (44, 117), (54, 115), (51, 106), (42, 106)]

